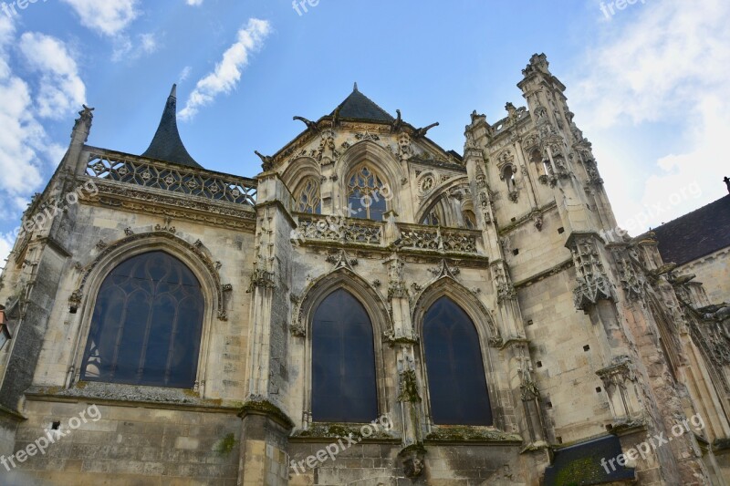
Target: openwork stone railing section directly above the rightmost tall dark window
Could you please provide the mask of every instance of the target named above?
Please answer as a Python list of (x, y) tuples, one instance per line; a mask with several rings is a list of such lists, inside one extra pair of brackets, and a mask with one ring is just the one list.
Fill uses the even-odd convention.
[(399, 224), (398, 227), (401, 230), (401, 245), (404, 248), (477, 253), (476, 239), (479, 234), (477, 231), (414, 224)]

